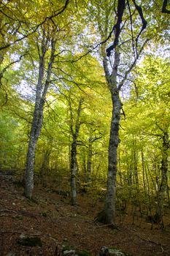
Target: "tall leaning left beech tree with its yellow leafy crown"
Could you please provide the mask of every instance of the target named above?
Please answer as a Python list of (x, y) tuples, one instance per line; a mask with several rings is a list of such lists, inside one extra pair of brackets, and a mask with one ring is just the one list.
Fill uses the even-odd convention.
[[(38, 71), (38, 79), (36, 84), (36, 99), (34, 106), (34, 115), (33, 121), (31, 124), (31, 132), (29, 136), (28, 143), (28, 153), (26, 158), (26, 174), (25, 174), (25, 191), (24, 194), (26, 197), (31, 198), (34, 188), (34, 159), (35, 159), (35, 149), (36, 143), (39, 138), (39, 134), (42, 129), (42, 120), (43, 120), (43, 110), (45, 106), (45, 99), (47, 95), (47, 91), (49, 89), (52, 75), (53, 79), (56, 80), (55, 75), (53, 74), (53, 66), (55, 64), (55, 68), (58, 69), (57, 61), (55, 62), (55, 58), (60, 58), (62, 53), (69, 48), (65, 47), (65, 49), (61, 49), (61, 45), (59, 42), (63, 42), (66, 33), (69, 31), (70, 20), (67, 17), (65, 20), (58, 21), (58, 15), (63, 14), (66, 10), (69, 1), (66, 0), (65, 4), (61, 6), (61, 4), (57, 5), (57, 11), (53, 10), (53, 14), (47, 16), (44, 15), (44, 20), (42, 23), (36, 28), (36, 34), (31, 38), (36, 39), (36, 48), (39, 56), (39, 71)], [(72, 14), (70, 14), (72, 16)], [(63, 17), (66, 17), (63, 16)], [(56, 20), (57, 19), (57, 20)], [(58, 24), (56, 24), (58, 23)], [(67, 28), (65, 29), (65, 26)], [(64, 30), (65, 29), (65, 30)], [(64, 31), (64, 33), (63, 33)], [(68, 33), (69, 35), (69, 33)], [(65, 41), (66, 42), (66, 41)], [(67, 41), (68, 42), (68, 41)], [(56, 49), (56, 47), (58, 47)], [(56, 50), (58, 52), (56, 53)], [(50, 51), (50, 53), (49, 53)], [(34, 51), (33, 51), (34, 52)], [(59, 62), (59, 61), (58, 61)], [(57, 75), (59, 76), (59, 74)]]

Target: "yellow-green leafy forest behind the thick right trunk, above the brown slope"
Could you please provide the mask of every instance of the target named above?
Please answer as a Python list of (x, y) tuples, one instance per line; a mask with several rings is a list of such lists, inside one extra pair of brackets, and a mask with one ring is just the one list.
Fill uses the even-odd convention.
[(75, 191), (104, 197), (118, 91), (116, 208), (132, 206), (163, 227), (170, 206), (169, 6), (125, 1), (120, 13), (119, 4), (1, 1), (0, 169), (25, 177), (28, 197), (33, 184), (68, 194), (71, 187), (72, 204)]

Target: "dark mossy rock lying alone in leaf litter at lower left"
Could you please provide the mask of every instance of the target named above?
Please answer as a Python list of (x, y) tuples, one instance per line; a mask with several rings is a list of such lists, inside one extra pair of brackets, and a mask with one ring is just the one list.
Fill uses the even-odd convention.
[(39, 246), (42, 247), (42, 241), (39, 237), (28, 237), (21, 235), (20, 238), (17, 241), (17, 244), (20, 244), (22, 246)]

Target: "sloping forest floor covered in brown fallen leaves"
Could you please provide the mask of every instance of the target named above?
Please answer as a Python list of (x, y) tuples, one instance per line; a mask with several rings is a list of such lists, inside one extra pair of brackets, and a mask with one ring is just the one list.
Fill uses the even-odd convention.
[[(54, 256), (57, 244), (73, 246), (98, 255), (101, 246), (123, 249), (134, 256), (170, 255), (170, 214), (161, 230), (130, 214), (117, 216), (117, 229), (94, 222), (103, 203), (87, 195), (70, 206), (69, 197), (49, 188), (36, 187), (34, 202), (23, 197), (13, 177), (0, 173), (0, 255)], [(42, 246), (17, 243), (20, 235), (41, 238)]]

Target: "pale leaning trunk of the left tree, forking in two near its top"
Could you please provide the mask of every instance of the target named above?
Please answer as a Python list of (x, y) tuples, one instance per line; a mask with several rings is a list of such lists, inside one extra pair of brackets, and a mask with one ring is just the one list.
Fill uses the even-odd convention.
[(50, 84), (50, 77), (53, 67), (53, 61), (55, 59), (55, 40), (51, 39), (51, 55), (50, 61), (47, 67), (47, 78), (45, 83), (44, 80), (44, 70), (45, 70), (45, 53), (47, 53), (47, 40), (45, 44), (45, 38), (42, 39), (42, 55), (39, 56), (39, 78), (36, 86), (36, 102), (34, 107), (34, 116), (31, 124), (31, 133), (28, 143), (28, 152), (26, 157), (26, 173), (25, 173), (25, 189), (24, 195), (28, 198), (32, 198), (34, 189), (34, 162), (35, 162), (35, 151), (36, 143), (39, 138), (39, 134), (42, 129), (43, 120), (43, 110), (45, 105), (45, 97), (47, 94), (47, 89)]

